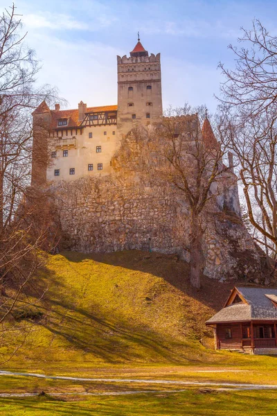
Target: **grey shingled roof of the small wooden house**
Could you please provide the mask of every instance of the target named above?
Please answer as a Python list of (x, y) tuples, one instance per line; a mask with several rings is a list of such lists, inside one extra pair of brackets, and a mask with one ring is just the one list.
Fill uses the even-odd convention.
[(249, 320), (277, 320), (277, 289), (272, 288), (234, 288), (232, 295), (237, 293), (241, 303), (228, 304), (212, 318), (207, 324), (218, 322), (236, 322)]

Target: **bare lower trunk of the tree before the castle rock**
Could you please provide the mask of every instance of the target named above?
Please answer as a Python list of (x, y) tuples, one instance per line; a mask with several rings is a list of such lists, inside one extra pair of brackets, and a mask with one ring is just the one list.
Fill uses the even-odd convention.
[(191, 218), (190, 236), (190, 284), (194, 288), (200, 288), (200, 260), (202, 248), (202, 230), (195, 214)]

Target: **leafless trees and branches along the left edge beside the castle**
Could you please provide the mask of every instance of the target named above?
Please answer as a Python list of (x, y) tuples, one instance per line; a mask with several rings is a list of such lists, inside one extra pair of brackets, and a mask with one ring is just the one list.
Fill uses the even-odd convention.
[[(35, 272), (42, 266), (42, 248), (49, 248), (47, 195), (28, 190), (33, 142), (30, 112), (44, 99), (54, 98), (55, 90), (35, 86), (39, 65), (24, 43), (26, 35), (21, 36), (21, 21), (15, 10), (13, 5), (0, 17), (1, 339), (4, 331), (13, 328), (13, 313), (22, 307), (20, 297), (33, 285)], [(42, 128), (41, 134), (45, 143), (47, 130)], [(40, 221), (35, 224), (38, 211)]]

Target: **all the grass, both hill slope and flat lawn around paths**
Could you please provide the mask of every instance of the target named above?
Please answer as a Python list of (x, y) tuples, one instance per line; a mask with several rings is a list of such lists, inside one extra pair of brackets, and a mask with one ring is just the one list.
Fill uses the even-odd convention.
[[(160, 379), (277, 384), (277, 357), (215, 352), (205, 320), (219, 310), (232, 284), (202, 276), (190, 288), (188, 266), (174, 256), (138, 251), (65, 252), (50, 256), (21, 299), (26, 341), (1, 370), (109, 379)], [(243, 284), (243, 282), (240, 282)], [(40, 299), (42, 293), (44, 296)], [(33, 306), (35, 302), (35, 306)], [(39, 313), (39, 320), (28, 314)], [(9, 338), (10, 337), (10, 338)], [(0, 361), (12, 349), (0, 348)], [(233, 370), (239, 370), (234, 372)], [(175, 390), (176, 385), (93, 383), (0, 376), (0, 392)], [(189, 389), (189, 388), (188, 388)], [(134, 396), (0, 399), (2, 415), (270, 415), (277, 392), (197, 390)]]

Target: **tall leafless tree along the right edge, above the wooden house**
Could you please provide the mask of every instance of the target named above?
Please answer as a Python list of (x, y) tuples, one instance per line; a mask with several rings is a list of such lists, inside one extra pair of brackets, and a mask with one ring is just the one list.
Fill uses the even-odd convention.
[(260, 21), (242, 29), (242, 47), (230, 46), (236, 67), (225, 76), (221, 136), (235, 155), (236, 171), (255, 227), (254, 238), (271, 257), (277, 250), (277, 37)]

